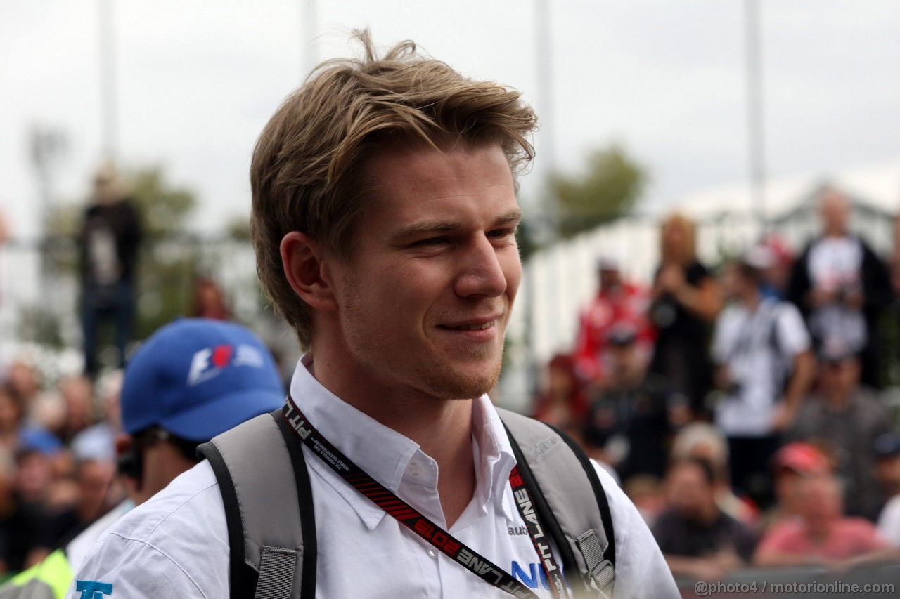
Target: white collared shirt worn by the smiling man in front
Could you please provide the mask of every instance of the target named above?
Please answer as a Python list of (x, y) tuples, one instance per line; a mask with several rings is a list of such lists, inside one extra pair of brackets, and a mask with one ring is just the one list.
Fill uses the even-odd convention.
[[(350, 460), (421, 514), (445, 526), (437, 494), (437, 462), (419, 444), (335, 397), (301, 362), (291, 395), (320, 433)], [(474, 400), (477, 484), (449, 530), (506, 569), (540, 597), (551, 597), (525, 523), (513, 503), (509, 472), (516, 461), (487, 396)], [(509, 597), (434, 550), (359, 494), (305, 446), (319, 545), (316, 596)], [(653, 535), (635, 506), (603, 469), (616, 532), (616, 597), (677, 597)], [(228, 527), (219, 487), (203, 461), (107, 531), (77, 580), (112, 584), (123, 597), (229, 596)], [(79, 598), (75, 584), (68, 597)]]

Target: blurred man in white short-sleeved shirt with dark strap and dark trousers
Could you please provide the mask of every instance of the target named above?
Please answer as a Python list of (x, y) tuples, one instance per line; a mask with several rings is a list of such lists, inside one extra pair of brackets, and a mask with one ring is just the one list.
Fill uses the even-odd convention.
[(716, 425), (728, 438), (729, 469), (738, 494), (771, 501), (768, 472), (779, 433), (790, 425), (810, 382), (815, 360), (803, 317), (793, 304), (765, 298), (761, 269), (768, 255), (753, 248), (725, 270), (733, 303), (716, 323)]

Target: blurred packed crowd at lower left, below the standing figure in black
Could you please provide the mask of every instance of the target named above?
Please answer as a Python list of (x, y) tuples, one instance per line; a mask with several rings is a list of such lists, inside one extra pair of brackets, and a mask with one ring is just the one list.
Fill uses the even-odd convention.
[(0, 386), (0, 573), (43, 559), (124, 498), (115, 478), (121, 375), (45, 389), (17, 360)]

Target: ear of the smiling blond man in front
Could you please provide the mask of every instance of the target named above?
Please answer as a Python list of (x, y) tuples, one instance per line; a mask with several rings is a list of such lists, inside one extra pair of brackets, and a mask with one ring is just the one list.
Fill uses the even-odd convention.
[(300, 299), (319, 310), (337, 309), (319, 244), (305, 233), (291, 231), (282, 239), (281, 255), (284, 276)]

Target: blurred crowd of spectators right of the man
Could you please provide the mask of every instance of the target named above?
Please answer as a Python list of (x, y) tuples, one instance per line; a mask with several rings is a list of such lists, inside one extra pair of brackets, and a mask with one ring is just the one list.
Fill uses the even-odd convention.
[(841, 192), (818, 210), (805, 247), (768, 234), (715, 267), (672, 214), (651, 285), (599, 256), (576, 343), (548, 364), (534, 416), (618, 476), (677, 577), (900, 559), (879, 362), (896, 256), (851, 233)]

